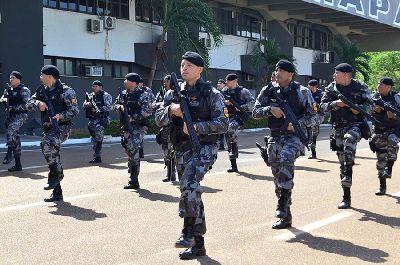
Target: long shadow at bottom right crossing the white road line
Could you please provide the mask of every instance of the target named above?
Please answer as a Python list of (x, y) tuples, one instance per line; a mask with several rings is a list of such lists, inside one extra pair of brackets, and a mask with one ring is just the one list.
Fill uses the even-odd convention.
[(342, 255), (344, 257), (355, 257), (360, 260), (373, 263), (386, 262), (387, 260), (385, 258), (389, 257), (387, 252), (380, 249), (371, 249), (358, 246), (345, 240), (313, 236), (310, 233), (296, 228), (292, 228), (290, 230), (294, 233), (301, 234), (288, 240), (288, 243), (301, 243), (312, 249)]

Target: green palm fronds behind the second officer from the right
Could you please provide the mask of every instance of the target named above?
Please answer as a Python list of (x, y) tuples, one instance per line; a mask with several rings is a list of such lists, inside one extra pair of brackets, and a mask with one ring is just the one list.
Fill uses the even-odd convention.
[(337, 35), (335, 36), (333, 50), (342, 62), (346, 62), (354, 67), (354, 75), (356, 72), (359, 72), (364, 78), (364, 81), (368, 82), (370, 72), (368, 62), (370, 56), (360, 48), (357, 42), (349, 41)]

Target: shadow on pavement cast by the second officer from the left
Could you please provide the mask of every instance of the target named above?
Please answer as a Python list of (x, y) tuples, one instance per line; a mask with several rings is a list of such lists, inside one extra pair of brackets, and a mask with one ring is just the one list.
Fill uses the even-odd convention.
[(69, 202), (55, 202), (51, 208), (56, 208), (55, 211), (51, 211), (51, 214), (69, 216), (80, 221), (94, 221), (98, 218), (105, 218), (105, 213), (97, 213), (95, 210), (86, 209), (79, 206), (72, 205)]

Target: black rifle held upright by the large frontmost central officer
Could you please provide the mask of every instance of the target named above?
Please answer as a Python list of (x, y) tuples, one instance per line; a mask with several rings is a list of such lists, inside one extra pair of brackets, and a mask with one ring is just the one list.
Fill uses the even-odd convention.
[(201, 148), (200, 140), (197, 136), (196, 130), (194, 129), (194, 123), (192, 117), (190, 116), (187, 98), (181, 94), (178, 79), (176, 78), (175, 73), (171, 73), (171, 82), (174, 92), (178, 96), (179, 105), (181, 106), (181, 110), (183, 113), (183, 121), (186, 123), (190, 142), (192, 143), (192, 150), (197, 153), (200, 151)]

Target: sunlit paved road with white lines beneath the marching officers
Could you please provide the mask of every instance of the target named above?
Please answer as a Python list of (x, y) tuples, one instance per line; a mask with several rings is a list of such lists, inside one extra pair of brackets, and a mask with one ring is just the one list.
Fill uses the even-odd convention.
[[(24, 171), (0, 166), (1, 264), (400, 264), (398, 163), (388, 195), (377, 197), (375, 158), (365, 141), (354, 168), (353, 208), (338, 210), (338, 163), (328, 130), (318, 160), (296, 163), (294, 228), (271, 229), (276, 199), (270, 169), (254, 148), (262, 133), (240, 136), (239, 173), (228, 174), (220, 152), (203, 181), (207, 257), (180, 261), (173, 242), (182, 220), (179, 190), (163, 183), (159, 147), (146, 142), (138, 192), (125, 191), (126, 155), (104, 147), (104, 163), (91, 166), (90, 147), (64, 146), (65, 202), (43, 203), (47, 167), (40, 150), (24, 149)], [(4, 155), (2, 152), (0, 155)]]

